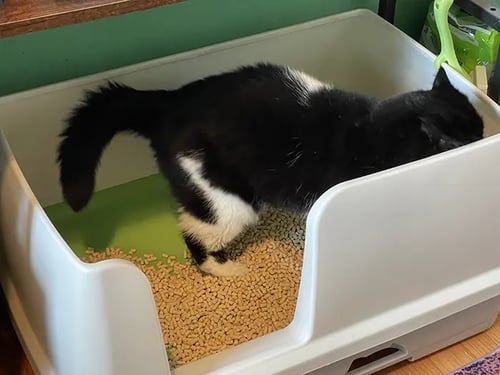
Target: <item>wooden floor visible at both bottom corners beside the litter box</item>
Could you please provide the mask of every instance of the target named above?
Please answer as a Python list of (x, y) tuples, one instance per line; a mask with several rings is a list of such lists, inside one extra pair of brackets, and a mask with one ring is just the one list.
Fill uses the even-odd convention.
[[(416, 362), (404, 362), (378, 375), (445, 375), (500, 346), (500, 316), (489, 330)], [(0, 293), (0, 375), (32, 375)], [(43, 374), (41, 374), (43, 375)]]

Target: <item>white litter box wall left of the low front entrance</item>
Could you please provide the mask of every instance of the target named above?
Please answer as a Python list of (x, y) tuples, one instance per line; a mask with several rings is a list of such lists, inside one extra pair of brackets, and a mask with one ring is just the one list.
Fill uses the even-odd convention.
[[(81, 263), (0, 138), (1, 282), (36, 372), (168, 375), (146, 277), (125, 261)], [(117, 288), (124, 284), (126, 293)]]

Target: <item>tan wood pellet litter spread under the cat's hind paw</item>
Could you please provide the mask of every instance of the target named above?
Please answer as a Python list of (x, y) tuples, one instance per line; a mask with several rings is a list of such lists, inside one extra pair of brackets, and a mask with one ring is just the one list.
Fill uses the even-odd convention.
[(87, 251), (86, 262), (132, 261), (148, 277), (171, 366), (176, 367), (286, 327), (293, 319), (305, 239), (302, 217), (263, 212), (257, 226), (228, 251), (249, 267), (242, 277), (202, 275), (174, 257), (163, 259), (134, 250)]

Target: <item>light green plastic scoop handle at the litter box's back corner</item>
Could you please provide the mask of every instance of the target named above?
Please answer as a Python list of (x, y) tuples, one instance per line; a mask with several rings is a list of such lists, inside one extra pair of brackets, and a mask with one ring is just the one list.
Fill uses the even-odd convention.
[(434, 60), (434, 67), (439, 69), (439, 67), (446, 62), (472, 82), (471, 76), (459, 64), (457, 55), (455, 54), (453, 39), (451, 38), (450, 27), (448, 25), (448, 11), (452, 5), (453, 0), (434, 0), (434, 17), (436, 19), (439, 40), (441, 41), (441, 52), (436, 60)]

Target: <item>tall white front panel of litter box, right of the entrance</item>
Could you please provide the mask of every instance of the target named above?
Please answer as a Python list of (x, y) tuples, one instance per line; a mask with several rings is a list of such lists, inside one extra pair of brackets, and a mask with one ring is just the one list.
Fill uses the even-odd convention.
[(311, 339), (355, 353), (500, 294), (498, 160), (497, 135), (322, 196), (296, 315)]

